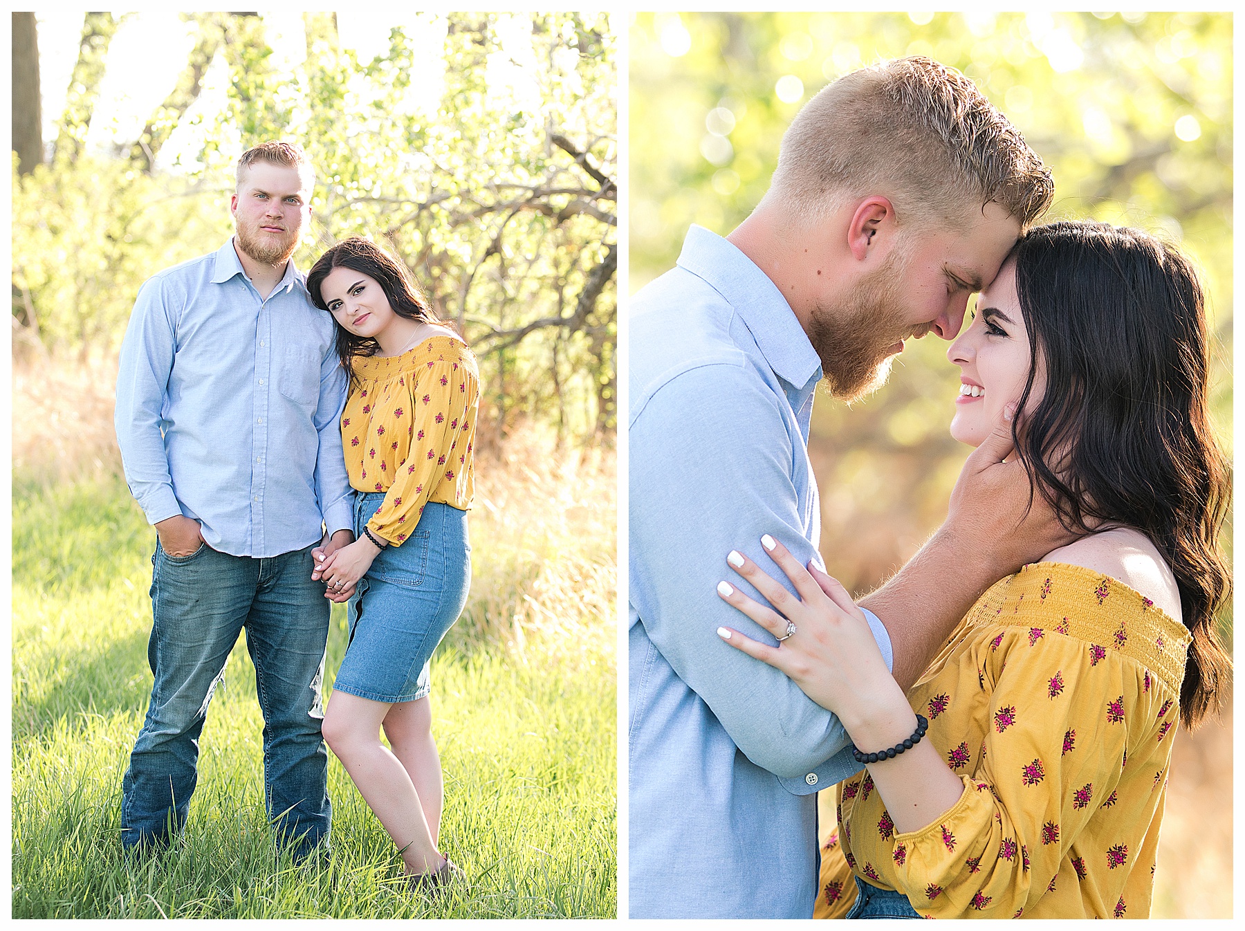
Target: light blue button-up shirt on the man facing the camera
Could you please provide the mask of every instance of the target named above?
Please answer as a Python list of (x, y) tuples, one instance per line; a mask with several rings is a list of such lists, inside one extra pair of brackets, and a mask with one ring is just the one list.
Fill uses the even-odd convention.
[(126, 482), (152, 524), (177, 514), (214, 550), (276, 556), (350, 529), (334, 321), (294, 263), (259, 296), (233, 240), (143, 284), (117, 371)]

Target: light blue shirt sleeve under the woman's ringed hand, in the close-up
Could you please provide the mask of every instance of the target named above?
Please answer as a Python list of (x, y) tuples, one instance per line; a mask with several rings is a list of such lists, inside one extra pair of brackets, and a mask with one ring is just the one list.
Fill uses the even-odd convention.
[[(758, 767), (807, 785), (804, 792), (855, 772), (849, 757), (844, 772), (824, 772), (823, 763), (848, 744), (834, 714), (716, 634), (730, 626), (776, 642), (716, 592), (730, 579), (763, 600), (731, 571), (732, 549), (788, 589), (761, 546), (762, 534), (782, 540), (802, 563), (820, 563), (801, 529), (806, 515), (792, 479), (793, 457), (806, 453), (784, 429), (773, 391), (745, 365), (693, 367), (646, 402), (631, 424), (630, 448), (630, 585), (654, 645)], [(808, 784), (818, 768), (824, 775)], [(843, 769), (842, 758), (833, 769)]]

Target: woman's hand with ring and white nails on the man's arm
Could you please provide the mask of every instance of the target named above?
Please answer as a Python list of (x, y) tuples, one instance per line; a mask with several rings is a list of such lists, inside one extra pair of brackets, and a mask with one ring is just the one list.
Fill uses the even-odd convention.
[[(812, 564), (802, 566), (769, 534), (761, 538), (761, 544), (799, 597), (737, 551), (727, 556), (727, 563), (773, 607), (753, 601), (728, 582), (718, 584), (717, 592), (776, 637), (786, 639), (778, 646), (767, 646), (726, 627), (718, 629), (718, 636), (787, 673), (809, 698), (838, 716), (862, 751), (903, 741), (913, 732), (915, 717), (881, 658), (864, 612), (837, 580)], [(789, 637), (788, 621), (796, 627)]]

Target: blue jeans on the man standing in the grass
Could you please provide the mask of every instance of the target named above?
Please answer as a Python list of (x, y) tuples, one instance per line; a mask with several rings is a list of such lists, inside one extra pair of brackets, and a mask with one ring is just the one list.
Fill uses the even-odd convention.
[(324, 584), (311, 581), (311, 546), (251, 559), (207, 545), (174, 558), (156, 544), (147, 645), (156, 681), (122, 782), (125, 849), (167, 844), (169, 830), (186, 825), (208, 703), (244, 627), (264, 714), (268, 816), (295, 856), (327, 840), (320, 682), (329, 601)]

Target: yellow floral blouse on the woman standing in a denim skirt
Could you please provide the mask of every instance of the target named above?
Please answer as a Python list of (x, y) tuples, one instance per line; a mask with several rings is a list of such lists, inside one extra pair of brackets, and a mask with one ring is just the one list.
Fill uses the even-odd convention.
[(341, 414), (350, 484), (385, 492), (367, 529), (401, 545), (428, 502), (471, 507), (479, 372), (467, 345), (433, 336), (401, 356), (351, 360)]

